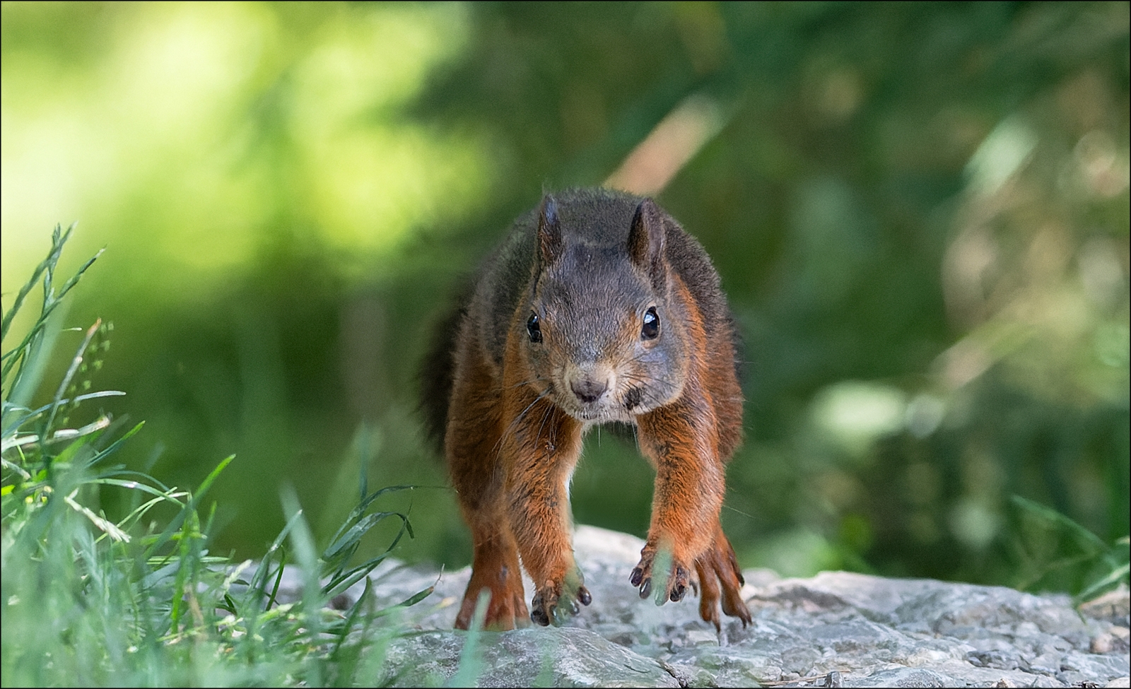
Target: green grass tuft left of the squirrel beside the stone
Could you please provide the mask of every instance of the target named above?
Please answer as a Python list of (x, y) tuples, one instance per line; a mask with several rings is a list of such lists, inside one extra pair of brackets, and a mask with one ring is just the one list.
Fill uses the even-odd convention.
[[(399, 634), (379, 609), (366, 578), (405, 535), (407, 517), (375, 509), (407, 486), (369, 492), (364, 473), (357, 506), (318, 552), (293, 492), (280, 497), (286, 527), (258, 565), (208, 551), (215, 505), (209, 488), (227, 457), (195, 490), (112, 464), (141, 423), (126, 425), (90, 391), (111, 328), (92, 325), (53, 388), (51, 401), (25, 406), (48, 370), (52, 315), (97, 258), (55, 290), (55, 268), (70, 230), (57, 227), (52, 249), (3, 316), (3, 336), (38, 285), (40, 313), (19, 344), (3, 353), (2, 385), (2, 675), (6, 686), (340, 686), (386, 677), (380, 648)], [(84, 414), (85, 423), (71, 423)], [(107, 518), (107, 491), (126, 491), (130, 509)], [(379, 555), (352, 563), (362, 536), (387, 519), (399, 531)], [(277, 600), (283, 570), (304, 572), (300, 600)], [(365, 579), (365, 593), (345, 611), (327, 603)]]

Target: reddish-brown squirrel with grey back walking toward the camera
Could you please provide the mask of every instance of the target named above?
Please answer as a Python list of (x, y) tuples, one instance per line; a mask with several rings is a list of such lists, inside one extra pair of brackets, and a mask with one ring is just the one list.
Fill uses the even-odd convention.
[(484, 589), (490, 629), (527, 615), (560, 625), (590, 603), (568, 484), (585, 432), (621, 422), (656, 471), (632, 586), (648, 597), (655, 579), (657, 603), (697, 587), (705, 621), (719, 629), (722, 606), (745, 627), (742, 571), (719, 524), (725, 464), (742, 441), (736, 351), (707, 252), (650, 198), (575, 189), (518, 218), (424, 362), (428, 425), (474, 542), (455, 626), (468, 628)]

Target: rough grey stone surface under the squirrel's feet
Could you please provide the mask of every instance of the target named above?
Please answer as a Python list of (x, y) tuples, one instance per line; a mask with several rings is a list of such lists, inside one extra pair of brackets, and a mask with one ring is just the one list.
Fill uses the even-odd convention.
[[(1128, 687), (1128, 592), (1072, 608), (1067, 596), (930, 579), (822, 572), (780, 579), (744, 572), (753, 623), (722, 632), (698, 601), (656, 606), (628, 583), (644, 543), (579, 526), (575, 551), (593, 593), (562, 628), (474, 637), (451, 629), (468, 569), (442, 576), (387, 563), (382, 604), (435, 584), (408, 609), (414, 634), (386, 649), (396, 686), (481, 687)], [(529, 582), (526, 589), (532, 589)], [(349, 603), (361, 586), (347, 592)], [(464, 646), (474, 648), (464, 661)], [(474, 672), (474, 674), (470, 674)]]

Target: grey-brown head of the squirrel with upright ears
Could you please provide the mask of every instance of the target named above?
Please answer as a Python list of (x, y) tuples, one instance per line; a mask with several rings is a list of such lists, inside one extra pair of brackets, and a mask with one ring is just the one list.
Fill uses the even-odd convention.
[[(604, 215), (601, 222), (611, 222)], [(627, 241), (594, 242), (562, 226), (547, 196), (538, 212), (529, 308), (516, 317), (534, 385), (585, 422), (631, 422), (676, 397), (688, 370), (688, 315), (665, 215), (651, 199), (632, 214)], [(601, 236), (624, 236), (610, 227)]]

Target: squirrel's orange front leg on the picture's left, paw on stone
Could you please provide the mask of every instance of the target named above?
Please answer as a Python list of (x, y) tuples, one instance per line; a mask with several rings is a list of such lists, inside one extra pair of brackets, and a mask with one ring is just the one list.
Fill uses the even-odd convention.
[(573, 560), (566, 492), (580, 451), (580, 423), (546, 399), (530, 403), (503, 438), (511, 532), (534, 580), (530, 619), (543, 626), (592, 600)]

